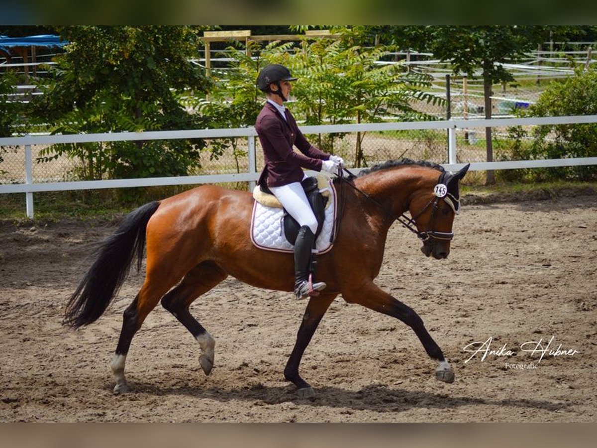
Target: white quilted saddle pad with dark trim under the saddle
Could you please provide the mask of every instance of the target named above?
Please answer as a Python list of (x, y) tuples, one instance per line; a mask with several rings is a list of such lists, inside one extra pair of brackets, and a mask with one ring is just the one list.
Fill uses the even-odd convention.
[[(330, 240), (336, 223), (336, 189), (331, 181), (327, 188), (331, 192), (330, 206), (325, 208), (324, 224), (315, 241), (316, 254), (326, 253), (333, 246)], [(253, 244), (261, 249), (293, 252), (294, 245), (290, 244), (284, 235), (283, 218), (283, 208), (266, 207), (254, 201), (253, 217), (251, 217), (251, 241)]]

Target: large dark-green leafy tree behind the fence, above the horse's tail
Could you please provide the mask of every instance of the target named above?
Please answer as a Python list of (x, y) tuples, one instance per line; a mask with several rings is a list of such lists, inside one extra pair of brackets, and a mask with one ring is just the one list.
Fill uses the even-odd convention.
[[(53, 133), (180, 130), (201, 127), (181, 97), (205, 93), (208, 80), (196, 55), (198, 29), (190, 26), (66, 26), (70, 42), (57, 56), (56, 77), (33, 103)], [(180, 176), (196, 167), (198, 140), (57, 145), (45, 158), (81, 159), (85, 179)]]

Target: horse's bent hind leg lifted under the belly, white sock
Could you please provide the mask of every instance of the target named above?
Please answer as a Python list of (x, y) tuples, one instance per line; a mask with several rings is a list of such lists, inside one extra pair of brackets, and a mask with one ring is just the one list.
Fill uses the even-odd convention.
[(203, 262), (193, 268), (184, 276), (180, 284), (162, 298), (162, 306), (170, 311), (181, 324), (195, 337), (202, 354), (199, 356), (199, 365), (210, 375), (214, 366), (214, 346), (216, 341), (190, 314), (189, 306), (197, 297), (206, 293), (226, 278), (224, 272), (216, 263)]

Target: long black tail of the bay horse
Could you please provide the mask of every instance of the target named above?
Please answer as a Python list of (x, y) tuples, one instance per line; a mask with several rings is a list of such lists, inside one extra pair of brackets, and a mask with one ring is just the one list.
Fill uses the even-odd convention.
[(63, 325), (79, 328), (95, 322), (127, 278), (135, 254), (137, 269), (141, 268), (147, 222), (158, 207), (154, 201), (131, 211), (118, 231), (101, 243), (96, 262), (70, 296)]

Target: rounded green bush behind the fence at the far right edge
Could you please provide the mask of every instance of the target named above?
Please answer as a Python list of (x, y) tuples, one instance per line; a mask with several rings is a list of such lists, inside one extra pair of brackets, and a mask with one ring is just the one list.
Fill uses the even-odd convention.
[[(521, 116), (567, 116), (597, 114), (597, 70), (577, 69), (573, 77), (552, 82), (535, 105)], [(532, 131), (509, 130), (514, 140), (513, 159), (560, 159), (597, 156), (597, 124), (542, 125)], [(529, 139), (528, 137), (532, 137)], [(597, 179), (595, 166), (534, 170), (535, 180)], [(528, 173), (525, 173), (528, 174)]]

